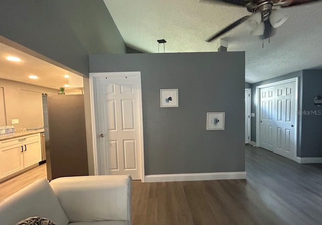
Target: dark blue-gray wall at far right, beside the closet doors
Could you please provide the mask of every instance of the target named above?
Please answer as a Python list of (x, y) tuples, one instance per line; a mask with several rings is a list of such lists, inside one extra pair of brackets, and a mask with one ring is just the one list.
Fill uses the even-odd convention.
[(322, 106), (313, 102), (318, 95), (322, 95), (322, 69), (303, 70), (300, 157), (322, 157)]

